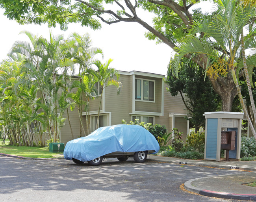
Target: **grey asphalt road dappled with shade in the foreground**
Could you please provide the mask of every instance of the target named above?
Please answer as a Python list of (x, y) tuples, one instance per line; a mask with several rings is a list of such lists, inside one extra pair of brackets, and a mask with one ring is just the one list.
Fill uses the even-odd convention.
[(171, 163), (106, 159), (101, 166), (65, 159), (25, 160), (0, 156), (1, 202), (236, 202), (193, 195), (187, 180), (239, 173)]

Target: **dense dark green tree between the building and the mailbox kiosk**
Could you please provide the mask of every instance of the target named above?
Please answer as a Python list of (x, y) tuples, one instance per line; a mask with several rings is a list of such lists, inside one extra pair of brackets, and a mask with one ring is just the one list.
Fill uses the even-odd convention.
[(205, 124), (204, 112), (220, 108), (221, 99), (213, 91), (208, 77), (205, 78), (202, 70), (192, 61), (185, 58), (180, 61), (178, 79), (173, 76), (170, 66), (165, 80), (169, 85), (168, 91), (172, 96), (180, 93), (189, 115), (187, 119), (198, 130)]

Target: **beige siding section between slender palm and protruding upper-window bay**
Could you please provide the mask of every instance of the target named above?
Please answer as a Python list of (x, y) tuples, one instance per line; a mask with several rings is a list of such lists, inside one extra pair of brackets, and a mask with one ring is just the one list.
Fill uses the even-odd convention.
[(130, 76), (121, 75), (122, 92), (117, 95), (117, 88), (109, 86), (105, 88), (105, 111), (111, 112), (111, 125), (122, 124), (121, 120), (130, 122)]

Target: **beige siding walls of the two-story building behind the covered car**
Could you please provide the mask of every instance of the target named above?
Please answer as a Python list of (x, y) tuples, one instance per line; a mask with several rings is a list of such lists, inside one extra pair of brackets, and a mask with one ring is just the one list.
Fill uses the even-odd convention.
[[(147, 73), (140, 72), (142, 74), (147, 75)], [(145, 116), (154, 116), (154, 124), (161, 124), (165, 125), (169, 132), (172, 129), (178, 128), (181, 132), (186, 134), (187, 130), (187, 120), (183, 117), (175, 117), (175, 114), (178, 115), (185, 115), (186, 110), (185, 106), (182, 102), (182, 98), (180, 95), (178, 96), (171, 96), (171, 93), (167, 92), (166, 88), (168, 87), (167, 84), (163, 84), (163, 76), (162, 78), (154, 78), (152, 74), (151, 76), (141, 76), (137, 75), (136, 72), (124, 72), (121, 73), (119, 81), (122, 83), (122, 92), (120, 95), (117, 95), (117, 88), (115, 86), (109, 86), (104, 89), (104, 97), (102, 99), (102, 105), (100, 107), (101, 115), (107, 114), (108, 115), (108, 125), (115, 125), (115, 124), (122, 124), (121, 120), (124, 119), (126, 122), (130, 122), (132, 120), (132, 115), (136, 115), (136, 111), (139, 112), (148, 112), (148, 115)], [(156, 76), (161, 77), (161, 75)], [(135, 100), (135, 114), (133, 114), (133, 89), (134, 89), (134, 82), (135, 78), (144, 78), (148, 80), (155, 81), (155, 102), (143, 102), (143, 101), (136, 101)], [(163, 96), (163, 112), (162, 112), (162, 89), (164, 90)], [(95, 100), (90, 101), (90, 114), (95, 115), (98, 111), (98, 105), (100, 102), (100, 97), (95, 97)], [(92, 113), (93, 112), (93, 113)], [(152, 112), (152, 115), (150, 115)], [(163, 113), (163, 116), (155, 116), (154, 112)], [(169, 117), (169, 114), (173, 113), (174, 117)], [(141, 115), (137, 112), (138, 115)], [(143, 114), (142, 114), (143, 115)], [(74, 111), (69, 110), (70, 122), (72, 125), (72, 130), (74, 133), (74, 138), (79, 137), (80, 131), (80, 120), (78, 116), (78, 109)], [(144, 115), (143, 115), (144, 116)], [(67, 112), (65, 112), (64, 117), (67, 117)], [(85, 113), (83, 113), (82, 117), (83, 126), (86, 129), (86, 117)], [(173, 122), (174, 120), (174, 122)], [(174, 124), (174, 125), (173, 125)], [(184, 135), (186, 138), (186, 135)], [(68, 120), (65, 121), (65, 126), (61, 128), (61, 142), (67, 143), (67, 141), (71, 140), (71, 132), (69, 127)]]

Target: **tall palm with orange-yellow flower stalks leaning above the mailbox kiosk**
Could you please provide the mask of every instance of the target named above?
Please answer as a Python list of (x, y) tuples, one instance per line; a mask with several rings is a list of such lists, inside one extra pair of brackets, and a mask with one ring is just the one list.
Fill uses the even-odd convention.
[[(189, 30), (189, 35), (177, 45), (175, 49), (177, 54), (172, 70), (176, 74), (180, 59), (187, 54), (204, 55), (204, 58), (207, 59), (206, 75), (214, 79), (220, 76), (232, 76), (241, 106), (256, 138), (238, 81), (239, 74), (244, 73), (240, 71), (243, 67), (240, 37), (243, 28), (254, 15), (252, 11), (241, 9), (240, 6), (237, 6), (236, 0), (220, 0), (217, 11), (210, 18), (194, 22), (193, 27)], [(198, 38), (198, 33), (204, 33), (204, 36)]]

